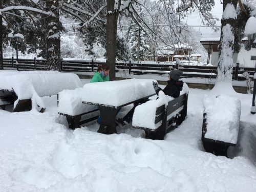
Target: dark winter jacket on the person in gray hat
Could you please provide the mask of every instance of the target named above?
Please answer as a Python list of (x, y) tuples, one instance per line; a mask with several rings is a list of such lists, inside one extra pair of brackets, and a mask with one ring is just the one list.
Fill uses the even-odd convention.
[(158, 95), (159, 91), (163, 91), (165, 95), (172, 96), (174, 98), (179, 97), (180, 91), (182, 90), (183, 87), (183, 82), (171, 79), (167, 81), (167, 83), (167, 86), (163, 90), (161, 88), (156, 90), (156, 94)]

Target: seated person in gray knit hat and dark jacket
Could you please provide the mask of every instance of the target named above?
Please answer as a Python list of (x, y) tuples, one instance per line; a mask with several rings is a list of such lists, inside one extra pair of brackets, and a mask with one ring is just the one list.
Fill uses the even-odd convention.
[(159, 91), (163, 91), (165, 95), (177, 98), (180, 96), (180, 91), (183, 87), (183, 82), (179, 81), (180, 76), (183, 74), (181, 70), (174, 69), (169, 73), (169, 80), (167, 81), (167, 86), (162, 90), (158, 87), (158, 84), (153, 81), (153, 86), (158, 95)]

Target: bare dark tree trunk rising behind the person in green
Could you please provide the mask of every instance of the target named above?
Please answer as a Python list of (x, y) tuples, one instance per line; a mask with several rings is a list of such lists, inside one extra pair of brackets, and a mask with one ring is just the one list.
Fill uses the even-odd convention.
[(115, 6), (115, 0), (106, 1), (106, 64), (110, 66), (110, 79), (116, 78), (116, 35), (117, 19), (121, 0)]

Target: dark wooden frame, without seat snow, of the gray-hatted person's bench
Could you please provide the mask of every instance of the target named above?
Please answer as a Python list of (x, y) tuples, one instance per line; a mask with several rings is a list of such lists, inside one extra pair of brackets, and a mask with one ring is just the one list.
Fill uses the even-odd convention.
[(163, 104), (156, 109), (155, 124), (161, 123), (157, 129), (133, 127), (144, 130), (146, 139), (164, 139), (166, 133), (174, 130), (184, 121), (187, 115), (187, 98), (188, 94), (180, 95), (178, 98), (169, 101), (167, 106)]

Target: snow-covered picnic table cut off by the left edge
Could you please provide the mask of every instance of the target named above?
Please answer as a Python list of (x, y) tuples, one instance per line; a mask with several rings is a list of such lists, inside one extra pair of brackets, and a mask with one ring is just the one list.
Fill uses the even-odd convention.
[[(2, 103), (14, 104), (13, 112), (31, 110), (32, 100), (45, 109), (40, 99), (43, 96), (56, 95), (65, 89), (81, 87), (81, 81), (76, 74), (57, 71), (0, 71), (0, 90), (5, 97)], [(2, 105), (3, 106), (3, 105)]]

